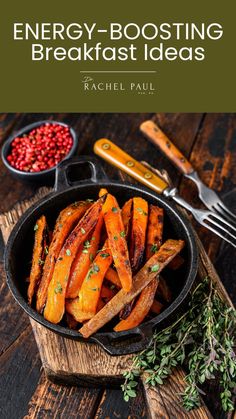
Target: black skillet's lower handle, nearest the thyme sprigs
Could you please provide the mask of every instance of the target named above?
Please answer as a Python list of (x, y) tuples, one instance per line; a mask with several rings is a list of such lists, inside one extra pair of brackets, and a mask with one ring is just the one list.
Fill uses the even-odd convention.
[[(119, 336), (119, 335), (123, 336)], [(140, 352), (148, 348), (153, 336), (152, 326), (145, 326), (145, 329), (136, 327), (132, 331), (110, 333), (109, 336), (97, 335), (91, 338), (98, 343), (109, 355), (128, 355)], [(124, 336), (125, 335), (125, 336)]]

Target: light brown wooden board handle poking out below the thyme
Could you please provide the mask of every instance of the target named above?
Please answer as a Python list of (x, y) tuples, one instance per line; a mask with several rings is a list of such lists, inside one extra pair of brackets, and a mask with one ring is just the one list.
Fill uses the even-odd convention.
[(149, 417), (156, 418), (183, 418), (208, 419), (212, 418), (206, 405), (187, 412), (181, 406), (180, 394), (184, 392), (184, 372), (180, 368), (165, 380), (164, 385), (150, 387), (145, 383), (146, 376), (142, 376), (143, 391), (147, 400)]

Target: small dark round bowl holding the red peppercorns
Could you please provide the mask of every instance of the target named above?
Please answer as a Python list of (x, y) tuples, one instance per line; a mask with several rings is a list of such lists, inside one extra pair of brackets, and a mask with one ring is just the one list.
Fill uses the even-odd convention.
[(53, 184), (53, 182), (55, 181), (55, 171), (56, 171), (57, 166), (54, 166), (47, 170), (42, 170), (41, 172), (29, 173), (29, 172), (23, 172), (22, 170), (15, 169), (8, 163), (8, 160), (7, 160), (7, 156), (10, 153), (10, 149), (11, 149), (11, 143), (16, 137), (20, 137), (24, 134), (28, 134), (32, 129), (37, 128), (41, 125), (45, 125), (45, 124), (58, 124), (64, 127), (68, 127), (70, 129), (70, 134), (73, 139), (73, 144), (69, 153), (64, 157), (62, 161), (74, 156), (77, 150), (77, 146), (78, 146), (77, 135), (74, 129), (71, 128), (68, 124), (65, 124), (64, 122), (45, 120), (45, 121), (34, 122), (33, 124), (27, 125), (26, 127), (20, 129), (19, 131), (11, 135), (6, 140), (2, 148), (2, 161), (4, 165), (12, 173), (13, 176), (17, 177), (20, 180), (23, 180), (26, 182), (40, 183), (40, 184)]

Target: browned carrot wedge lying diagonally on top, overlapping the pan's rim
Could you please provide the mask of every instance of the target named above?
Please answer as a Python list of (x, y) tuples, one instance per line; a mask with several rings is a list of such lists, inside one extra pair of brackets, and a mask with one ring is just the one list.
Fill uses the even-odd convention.
[(134, 278), (132, 288), (129, 292), (124, 289), (118, 293), (83, 327), (80, 329), (84, 338), (88, 338), (102, 326), (115, 317), (125, 304), (132, 301), (140, 292), (165, 268), (166, 265), (182, 250), (183, 240), (167, 240), (146, 262), (144, 267)]

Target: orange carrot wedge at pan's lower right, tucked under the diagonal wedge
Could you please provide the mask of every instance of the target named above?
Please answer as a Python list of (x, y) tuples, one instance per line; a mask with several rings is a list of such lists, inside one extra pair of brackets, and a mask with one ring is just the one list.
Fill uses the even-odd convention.
[(154, 278), (140, 294), (130, 315), (114, 327), (115, 332), (132, 329), (143, 321), (153, 304), (157, 286), (158, 279)]

